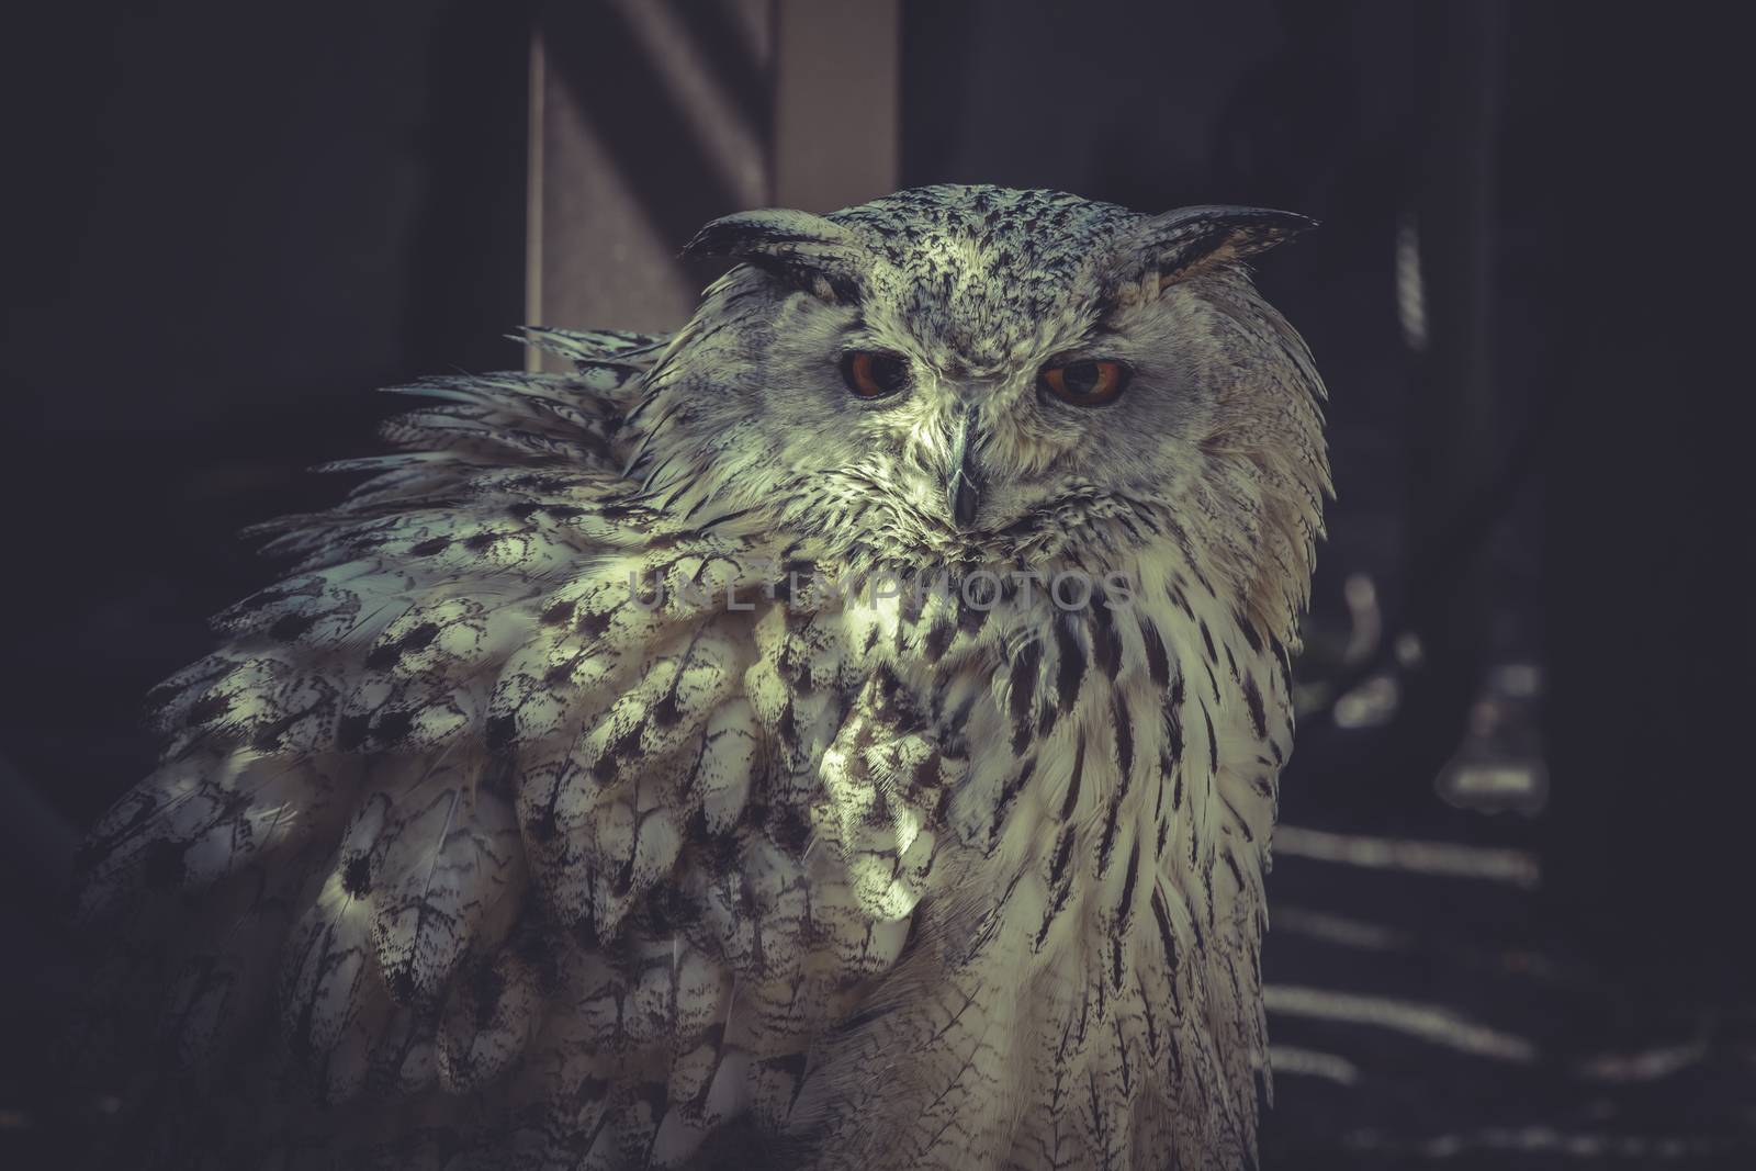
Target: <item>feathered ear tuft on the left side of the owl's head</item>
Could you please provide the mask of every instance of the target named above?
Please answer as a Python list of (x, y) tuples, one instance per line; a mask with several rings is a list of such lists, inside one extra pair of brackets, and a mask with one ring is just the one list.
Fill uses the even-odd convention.
[(839, 223), (806, 211), (769, 207), (715, 219), (683, 246), (683, 258), (722, 256), (776, 276), (836, 304), (862, 293), (866, 248)]

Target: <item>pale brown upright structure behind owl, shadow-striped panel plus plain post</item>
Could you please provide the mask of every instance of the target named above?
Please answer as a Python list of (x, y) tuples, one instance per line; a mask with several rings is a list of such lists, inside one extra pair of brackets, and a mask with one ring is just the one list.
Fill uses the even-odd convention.
[(901, 0), (543, 5), (525, 321), (673, 330), (716, 272), (676, 258), (702, 223), (896, 190), (901, 37)]

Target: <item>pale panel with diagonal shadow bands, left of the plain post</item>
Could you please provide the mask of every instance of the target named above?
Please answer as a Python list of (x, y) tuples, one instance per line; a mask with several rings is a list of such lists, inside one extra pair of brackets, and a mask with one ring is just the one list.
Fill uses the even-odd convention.
[(773, 56), (771, 0), (543, 5), (527, 323), (664, 332), (688, 318), (713, 272), (680, 262), (683, 242), (771, 202)]

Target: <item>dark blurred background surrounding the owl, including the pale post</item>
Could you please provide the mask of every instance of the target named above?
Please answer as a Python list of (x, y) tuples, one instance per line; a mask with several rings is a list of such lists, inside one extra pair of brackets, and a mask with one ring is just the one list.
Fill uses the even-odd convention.
[[(1707, 9), (601, 0), (7, 18), (0, 1160), (148, 686), (421, 374), (673, 328), (753, 205), (939, 181), (1324, 221), (1261, 284), (1338, 499), (1266, 946), (1264, 1166), (1756, 1166), (1749, 374)], [(1717, 54), (1717, 56), (1716, 56)], [(1735, 170), (1735, 165), (1733, 165)], [(14, 1162), (16, 1159), (16, 1162)]]

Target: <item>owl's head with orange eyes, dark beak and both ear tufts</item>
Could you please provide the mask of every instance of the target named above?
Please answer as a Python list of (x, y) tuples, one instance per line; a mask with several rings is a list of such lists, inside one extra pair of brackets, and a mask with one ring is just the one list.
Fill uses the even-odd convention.
[(716, 219), (685, 255), (743, 263), (650, 379), (648, 485), (759, 509), (831, 560), (1096, 567), (1162, 544), (1245, 593), (1299, 578), (1301, 602), (1322, 386), (1241, 262), (1306, 226), (994, 186)]

